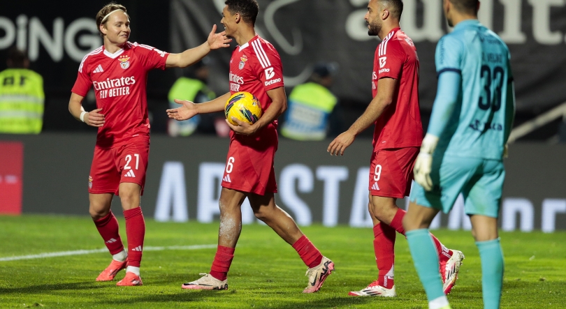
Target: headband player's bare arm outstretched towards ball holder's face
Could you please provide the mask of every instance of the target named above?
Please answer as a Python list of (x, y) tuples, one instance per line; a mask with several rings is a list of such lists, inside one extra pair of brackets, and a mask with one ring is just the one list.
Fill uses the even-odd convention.
[(226, 38), (226, 31), (216, 32), (216, 25), (212, 26), (212, 31), (208, 35), (208, 40), (198, 47), (185, 50), (180, 54), (169, 54), (165, 65), (167, 68), (185, 68), (200, 61), (210, 50), (217, 50), (222, 47), (229, 47), (231, 38)]

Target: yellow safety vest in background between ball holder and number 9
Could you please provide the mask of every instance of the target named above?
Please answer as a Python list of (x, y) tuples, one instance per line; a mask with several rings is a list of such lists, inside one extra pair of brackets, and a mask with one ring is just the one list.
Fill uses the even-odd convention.
[(293, 140), (324, 140), (328, 116), (338, 103), (332, 92), (315, 82), (296, 86), (289, 94), (289, 110), (281, 128)]

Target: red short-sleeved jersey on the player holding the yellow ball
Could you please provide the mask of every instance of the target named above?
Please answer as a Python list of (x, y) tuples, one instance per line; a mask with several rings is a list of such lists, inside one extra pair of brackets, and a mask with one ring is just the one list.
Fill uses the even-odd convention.
[[(260, 36), (238, 46), (230, 59), (230, 93), (247, 91), (258, 98), (263, 111), (271, 105), (267, 91), (284, 86), (281, 57)], [(277, 120), (273, 121), (277, 127)], [(232, 132), (233, 133), (233, 132)]]

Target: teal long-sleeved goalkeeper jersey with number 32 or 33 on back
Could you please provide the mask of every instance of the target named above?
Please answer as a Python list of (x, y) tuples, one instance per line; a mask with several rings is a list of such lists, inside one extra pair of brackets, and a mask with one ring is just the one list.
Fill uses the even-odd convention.
[[(502, 159), (514, 115), (509, 56), (501, 38), (477, 20), (458, 23), (440, 39), (435, 53), (439, 91), (428, 128), (440, 137), (438, 151)], [(458, 79), (456, 74), (459, 86), (450, 83)], [(455, 103), (443, 102), (442, 87), (444, 92), (451, 90), (446, 87), (459, 89), (453, 93)]]

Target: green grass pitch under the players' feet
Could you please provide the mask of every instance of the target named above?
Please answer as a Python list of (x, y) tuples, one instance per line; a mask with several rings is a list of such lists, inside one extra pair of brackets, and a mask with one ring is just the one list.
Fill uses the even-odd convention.
[[(125, 241), (124, 220), (119, 220)], [(147, 220), (145, 246), (215, 245), (218, 223)], [(142, 287), (96, 282), (108, 253), (0, 261), (0, 308), (428, 308), (407, 241), (396, 242), (394, 299), (354, 298), (377, 276), (372, 230), (303, 227), (336, 271), (316, 294), (302, 294), (306, 267), (269, 227), (245, 225), (228, 273), (227, 291), (186, 291), (181, 284), (210, 271), (215, 248), (146, 250)], [(453, 308), (482, 308), (481, 270), (470, 232), (437, 230), (466, 256), (449, 295)], [(565, 308), (565, 232), (502, 232), (505, 278), (502, 308)], [(0, 258), (103, 248), (92, 220), (77, 216), (0, 216)], [(117, 278), (121, 279), (121, 271)]]

